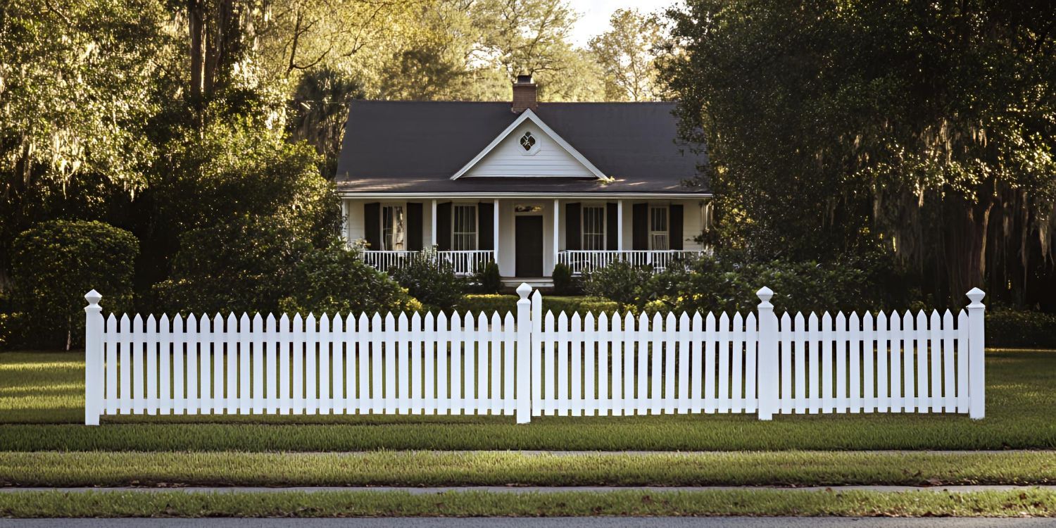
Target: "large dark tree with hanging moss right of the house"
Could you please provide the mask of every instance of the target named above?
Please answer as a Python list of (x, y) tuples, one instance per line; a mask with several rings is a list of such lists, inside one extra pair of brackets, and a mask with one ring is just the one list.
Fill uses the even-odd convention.
[(937, 299), (1056, 287), (1056, 6), (694, 0), (663, 78), (722, 240), (758, 258), (874, 249)]

